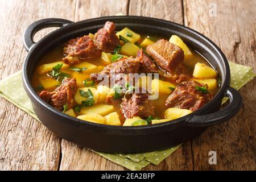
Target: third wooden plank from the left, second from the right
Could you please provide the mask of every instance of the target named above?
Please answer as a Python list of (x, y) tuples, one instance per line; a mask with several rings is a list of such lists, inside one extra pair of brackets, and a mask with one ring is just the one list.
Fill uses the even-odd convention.
[[(129, 15), (150, 16), (183, 24), (182, 2), (175, 1), (130, 1)], [(171, 36), (171, 35), (170, 35)], [(145, 170), (192, 170), (191, 141), (185, 142), (159, 166), (149, 165)]]

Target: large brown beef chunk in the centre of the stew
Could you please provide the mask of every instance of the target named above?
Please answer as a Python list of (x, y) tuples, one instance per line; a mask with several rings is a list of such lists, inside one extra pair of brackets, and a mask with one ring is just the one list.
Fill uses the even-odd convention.
[(134, 58), (123, 59), (107, 65), (100, 73), (92, 73), (90, 78), (100, 82), (98, 78), (108, 78), (114, 84), (124, 85), (129, 79), (129, 73), (138, 73), (141, 63)]

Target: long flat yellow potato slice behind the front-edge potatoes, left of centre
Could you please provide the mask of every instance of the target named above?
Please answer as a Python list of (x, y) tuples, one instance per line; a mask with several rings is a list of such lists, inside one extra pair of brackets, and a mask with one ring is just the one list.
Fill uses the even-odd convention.
[(107, 115), (109, 113), (112, 113), (114, 111), (113, 105), (107, 105), (107, 104), (96, 104), (90, 107), (86, 107), (81, 109), (81, 114), (100, 114), (100, 115)]

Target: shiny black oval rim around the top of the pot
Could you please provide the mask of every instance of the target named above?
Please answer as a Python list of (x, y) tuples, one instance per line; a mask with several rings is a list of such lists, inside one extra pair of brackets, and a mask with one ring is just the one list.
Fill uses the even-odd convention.
[[(61, 113), (60, 111), (56, 110), (54, 107), (52, 107), (51, 105), (47, 104), (46, 102), (44, 102), (39, 96), (38, 94), (36, 94), (36, 92), (34, 91), (34, 89), (32, 88), (32, 85), (30, 84), (30, 81), (28, 79), (28, 74), (27, 74), (27, 67), (28, 67), (28, 63), (31, 61), (30, 57), (31, 55), (33, 55), (35, 52), (36, 47), (40, 46), (40, 44), (42, 44), (43, 42), (45, 42), (45, 40), (49, 37), (52, 36), (54, 34), (56, 34), (57, 32), (60, 31), (64, 31), (67, 30), (70, 27), (75, 27), (84, 23), (88, 23), (88, 22), (94, 22), (96, 20), (110, 20), (110, 19), (123, 19), (123, 18), (139, 18), (139, 19), (144, 19), (144, 20), (153, 20), (153, 21), (157, 21), (157, 22), (162, 22), (164, 24), (169, 24), (170, 26), (175, 26), (177, 28), (181, 28), (183, 30), (186, 30), (188, 32), (192, 32), (192, 34), (196, 34), (197, 36), (200, 36), (201, 39), (204, 39), (205, 42), (207, 42), (208, 44), (210, 44), (210, 46), (212, 46), (212, 48), (214, 48), (217, 53), (218, 56), (221, 57), (222, 61), (224, 62), (224, 67), (223, 69), (220, 69), (221, 72), (224, 72), (225, 77), (222, 78), (222, 84), (220, 89), (218, 90), (218, 92), (216, 93), (216, 95), (212, 98), (212, 100), (210, 100), (206, 105), (204, 105), (203, 107), (201, 107), (199, 110), (194, 111), (191, 114), (185, 115), (184, 117), (181, 118), (177, 118), (174, 120), (170, 120), (167, 122), (163, 122), (163, 123), (158, 123), (158, 124), (154, 124), (154, 125), (145, 125), (145, 126), (113, 126), (113, 125), (103, 125), (103, 124), (98, 124), (98, 123), (93, 123), (93, 122), (88, 122), (88, 121), (83, 121), (81, 119), (77, 119), (75, 117), (71, 117), (67, 114)], [(65, 34), (65, 33), (64, 33)], [(189, 36), (191, 37), (191, 36)], [(200, 53), (200, 52), (199, 52)], [(210, 61), (209, 61), (210, 62)], [(200, 32), (197, 32), (195, 30), (192, 30), (191, 28), (185, 27), (181, 24), (175, 23), (175, 22), (171, 22), (168, 20), (163, 20), (163, 19), (158, 19), (158, 18), (151, 18), (151, 17), (147, 17), (147, 16), (102, 16), (102, 17), (98, 17), (98, 18), (92, 18), (92, 19), (86, 19), (86, 20), (81, 20), (79, 22), (74, 22), (74, 23), (69, 23), (67, 25), (65, 25), (64, 27), (60, 27), (57, 30), (51, 32), (50, 34), (44, 36), (42, 39), (39, 40), (39, 42), (35, 43), (35, 45), (29, 50), (27, 56), (26, 56), (26, 60), (23, 64), (23, 68), (22, 68), (22, 77), (23, 77), (23, 85), (24, 88), (26, 90), (26, 92), (28, 93), (28, 96), (30, 96), (30, 98), (34, 98), (34, 100), (36, 100), (36, 102), (38, 102), (38, 104), (42, 105), (45, 109), (51, 111), (53, 114), (56, 114), (56, 116), (59, 116), (60, 118), (65, 118), (65, 119), (61, 119), (62, 122), (69, 122), (69, 124), (72, 125), (72, 123), (77, 123), (80, 126), (91, 126), (91, 127), (95, 127), (98, 129), (104, 129), (104, 130), (123, 130), (123, 132), (127, 132), (127, 131), (133, 131), (134, 129), (138, 130), (151, 130), (154, 131), (154, 129), (159, 129), (159, 128), (166, 128), (168, 127), (172, 127), (172, 126), (177, 126), (179, 124), (182, 124), (185, 121), (188, 121), (189, 119), (191, 119), (194, 115), (201, 115), (200, 113), (204, 113), (205, 110), (210, 109), (210, 107), (216, 103), (216, 102), (220, 102), (220, 100), (224, 97), (224, 93), (225, 90), (229, 87), (230, 84), (230, 69), (229, 69), (229, 64), (228, 64), (228, 60), (226, 59), (224, 53), (221, 51), (221, 49), (212, 42), (212, 40), (210, 40), (209, 38), (207, 38), (206, 36), (204, 36), (203, 34), (201, 34)], [(164, 130), (160, 130), (160, 132), (163, 132)], [(124, 133), (125, 134), (125, 133)], [(131, 133), (129, 133), (130, 135)]]

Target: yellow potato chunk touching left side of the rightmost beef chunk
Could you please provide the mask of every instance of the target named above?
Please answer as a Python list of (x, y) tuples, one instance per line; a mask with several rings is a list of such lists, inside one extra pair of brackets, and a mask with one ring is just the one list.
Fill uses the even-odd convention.
[(167, 81), (154, 79), (151, 82), (151, 88), (154, 93), (159, 92), (170, 94), (172, 92), (171, 88), (176, 88), (176, 86)]

